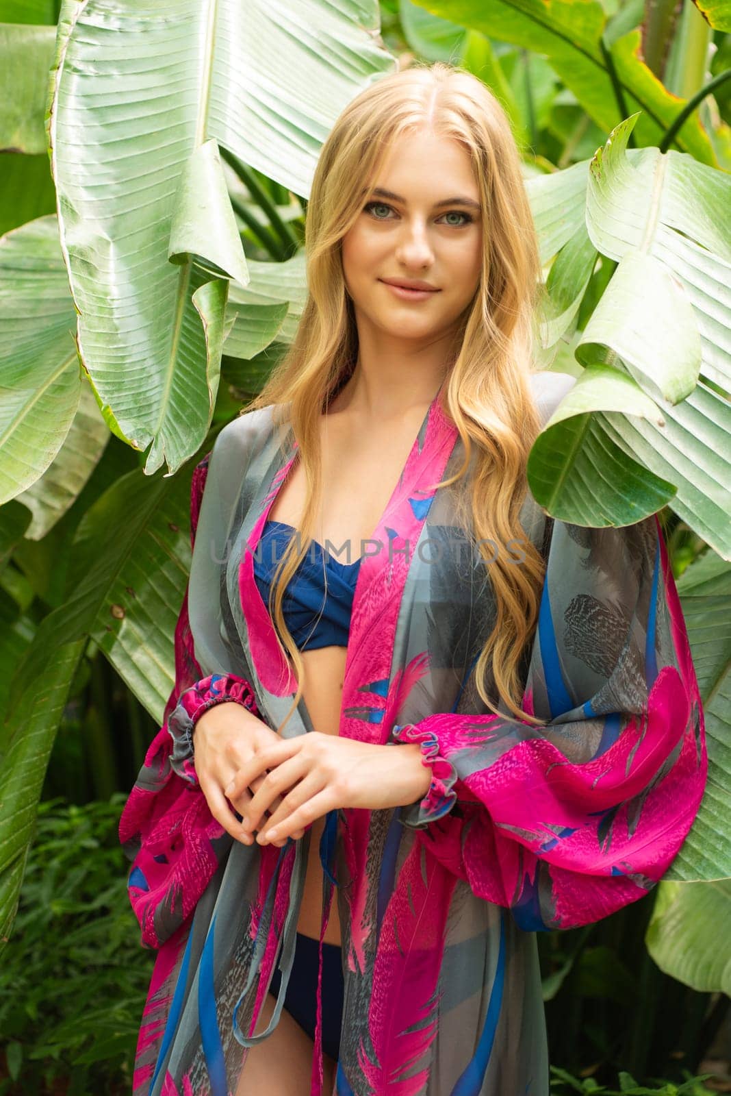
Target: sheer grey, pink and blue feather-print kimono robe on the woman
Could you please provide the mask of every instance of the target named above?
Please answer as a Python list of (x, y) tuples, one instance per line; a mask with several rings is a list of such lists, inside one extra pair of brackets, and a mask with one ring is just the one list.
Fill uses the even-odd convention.
[[(544, 421), (567, 383), (534, 378)], [(270, 1029), (281, 1012), (310, 830), (281, 849), (235, 842), (184, 744), (192, 712), (222, 689), (255, 697), (274, 728), (289, 708), (294, 682), (253, 553), (295, 456), (266, 408), (228, 424), (194, 473), (175, 688), (120, 823), (142, 941), (159, 949), (136, 1096), (234, 1093), (246, 1047), (266, 1037), (255, 1029), (278, 962)], [(547, 1096), (535, 933), (646, 894), (705, 786), (703, 709), (654, 516), (583, 528), (547, 517), (529, 493), (522, 525), (547, 570), (523, 706), (549, 722), (483, 704), (474, 663), (491, 628), (488, 569), (455, 521), (453, 489), (434, 490), (461, 461), (436, 398), (355, 592), (339, 733), (418, 742), (433, 779), (420, 802), (326, 820), (323, 934), (335, 894), (345, 975), (339, 1096)], [(282, 733), (311, 729), (300, 701)], [(318, 1026), (313, 1094), (321, 1070)]]

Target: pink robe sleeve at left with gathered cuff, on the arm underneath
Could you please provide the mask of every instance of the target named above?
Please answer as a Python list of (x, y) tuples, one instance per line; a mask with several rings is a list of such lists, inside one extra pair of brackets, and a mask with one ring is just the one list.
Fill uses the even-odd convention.
[[(196, 532), (211, 454), (194, 470), (190, 545)], [(132, 861), (129, 898), (142, 944), (159, 948), (193, 912), (218, 866), (223, 827), (210, 813), (193, 762), (192, 733), (213, 704), (235, 700), (258, 715), (252, 685), (235, 674), (204, 674), (196, 660), (186, 586), (175, 626), (175, 684), (135, 786), (121, 812), (119, 838)], [(211, 616), (216, 616), (211, 607)], [(213, 620), (214, 625), (216, 621)]]

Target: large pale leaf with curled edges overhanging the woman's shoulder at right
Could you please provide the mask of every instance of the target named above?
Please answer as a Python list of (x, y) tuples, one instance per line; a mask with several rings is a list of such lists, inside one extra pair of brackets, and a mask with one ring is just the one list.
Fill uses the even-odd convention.
[[(575, 350), (585, 365), (625, 370), (659, 413), (637, 415), (631, 400), (626, 413), (622, 404), (597, 402), (601, 414), (577, 431), (565, 421), (565, 409), (557, 409), (531, 454), (529, 480), (538, 494), (550, 494), (550, 512), (564, 521), (589, 525), (604, 515), (602, 524), (623, 525), (652, 503), (652, 492), (633, 493), (641, 466), (646, 487), (670, 484), (665, 501), (672, 496), (673, 510), (728, 558), (731, 407), (707, 381), (731, 387), (731, 232), (723, 213), (731, 205), (731, 180), (684, 153), (628, 151), (636, 121), (617, 126), (591, 162), (589, 238), (619, 265)], [(565, 210), (568, 187), (553, 179), (530, 185), (538, 230), (550, 246), (573, 249), (581, 260), (573, 260), (573, 279), (556, 279), (560, 295), (549, 320), (560, 327), (572, 289), (578, 295), (585, 281), (584, 251), (577, 246), (581, 228), (575, 227), (576, 212)], [(553, 218), (546, 210), (552, 190), (562, 199)], [(623, 467), (626, 481), (616, 479)]]

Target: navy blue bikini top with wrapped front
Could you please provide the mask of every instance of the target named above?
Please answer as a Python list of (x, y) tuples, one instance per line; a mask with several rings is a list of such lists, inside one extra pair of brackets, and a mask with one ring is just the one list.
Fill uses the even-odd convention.
[[(297, 530), (283, 522), (266, 522), (254, 551), (254, 580), (268, 606), (270, 580), (287, 543)], [(330, 552), (325, 560), (327, 590), (323, 575), (323, 548), (315, 540), (292, 575), (282, 601), (282, 613), (298, 650), (315, 647), (347, 647), (350, 614), (360, 559), (340, 563)]]

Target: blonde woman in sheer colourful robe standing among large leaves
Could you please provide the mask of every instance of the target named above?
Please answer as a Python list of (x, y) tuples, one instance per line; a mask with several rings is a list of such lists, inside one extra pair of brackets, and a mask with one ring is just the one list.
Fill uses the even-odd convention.
[(660, 526), (527, 491), (573, 381), (531, 365), (534, 230), (478, 80), (351, 102), (306, 246), (291, 350), (194, 475), (121, 819), (159, 948), (135, 1093), (547, 1096), (535, 932), (646, 894), (705, 785)]

